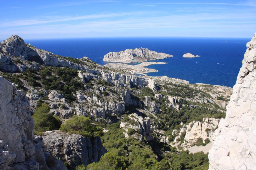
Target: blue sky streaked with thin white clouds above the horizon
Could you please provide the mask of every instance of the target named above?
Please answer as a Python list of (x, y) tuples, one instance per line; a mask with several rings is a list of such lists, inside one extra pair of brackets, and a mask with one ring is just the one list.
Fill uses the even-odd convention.
[(252, 37), (256, 1), (0, 0), (0, 39)]

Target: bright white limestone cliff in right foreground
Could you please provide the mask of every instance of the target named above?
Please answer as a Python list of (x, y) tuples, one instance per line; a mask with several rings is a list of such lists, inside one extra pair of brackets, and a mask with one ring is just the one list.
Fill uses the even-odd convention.
[(256, 169), (255, 44), (256, 33), (247, 43), (226, 118), (221, 119), (214, 132), (209, 169)]

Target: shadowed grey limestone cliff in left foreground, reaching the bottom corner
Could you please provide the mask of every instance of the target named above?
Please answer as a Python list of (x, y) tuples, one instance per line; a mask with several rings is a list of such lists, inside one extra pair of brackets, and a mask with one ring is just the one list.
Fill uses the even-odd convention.
[[(37, 142), (33, 142), (34, 122), (30, 116), (29, 100), (22, 90), (17, 90), (1, 76), (0, 108), (0, 168), (49, 169), (47, 154)], [(55, 163), (65, 169), (61, 162)]]

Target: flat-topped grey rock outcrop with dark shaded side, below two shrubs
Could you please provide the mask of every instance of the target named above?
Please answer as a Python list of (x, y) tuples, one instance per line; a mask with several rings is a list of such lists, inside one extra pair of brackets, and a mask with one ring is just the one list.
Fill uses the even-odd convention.
[(97, 162), (106, 153), (100, 137), (90, 139), (78, 134), (47, 131), (42, 136), (42, 141), (51, 155), (67, 162), (71, 169), (81, 164)]

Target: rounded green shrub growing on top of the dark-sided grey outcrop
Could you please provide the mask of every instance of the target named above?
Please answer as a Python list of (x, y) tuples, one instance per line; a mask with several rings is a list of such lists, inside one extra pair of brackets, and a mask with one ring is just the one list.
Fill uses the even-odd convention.
[(102, 128), (99, 125), (92, 124), (92, 121), (85, 116), (74, 116), (63, 123), (60, 130), (66, 133), (80, 134), (88, 138), (102, 135)]

